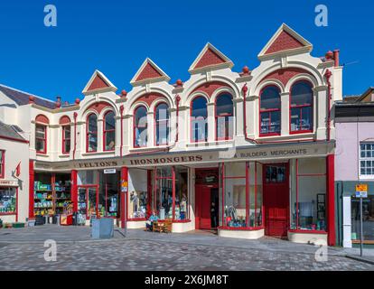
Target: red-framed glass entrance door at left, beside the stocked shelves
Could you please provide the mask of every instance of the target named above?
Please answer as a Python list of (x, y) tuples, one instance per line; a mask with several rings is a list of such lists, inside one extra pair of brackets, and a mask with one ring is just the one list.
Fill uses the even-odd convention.
[(98, 185), (78, 187), (78, 212), (86, 219), (99, 216), (98, 214)]

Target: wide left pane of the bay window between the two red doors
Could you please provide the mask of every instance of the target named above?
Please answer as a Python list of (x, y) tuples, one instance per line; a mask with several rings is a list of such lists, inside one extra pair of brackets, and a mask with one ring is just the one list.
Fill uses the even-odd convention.
[(225, 163), (225, 222), (228, 227), (247, 227), (246, 163)]

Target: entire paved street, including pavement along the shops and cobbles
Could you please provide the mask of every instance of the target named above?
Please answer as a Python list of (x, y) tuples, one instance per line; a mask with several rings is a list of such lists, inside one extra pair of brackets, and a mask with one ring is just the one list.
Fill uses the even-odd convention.
[[(57, 240), (57, 260), (46, 262), (48, 247), (30, 236), (56, 237), (58, 229), (53, 228), (51, 236), (46, 235), (47, 229), (41, 229), (41, 234), (37, 229), (14, 230), (7, 235), (5, 230), (0, 232), (0, 270), (374, 270), (374, 266), (349, 259), (335, 249), (330, 250), (327, 262), (317, 262), (314, 253), (318, 247), (276, 239), (252, 242), (210, 234), (160, 235), (129, 230), (126, 238), (117, 233), (110, 240), (91, 240), (83, 238), (87, 228), (82, 228), (81, 234), (77, 228), (64, 228), (64, 236), (72, 240)], [(10, 242), (11, 236), (18, 238)], [(73, 240), (74, 236), (79, 240)]]

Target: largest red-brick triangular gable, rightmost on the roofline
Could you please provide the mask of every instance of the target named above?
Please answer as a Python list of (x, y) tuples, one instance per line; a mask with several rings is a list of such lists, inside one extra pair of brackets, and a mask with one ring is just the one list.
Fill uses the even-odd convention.
[(310, 52), (312, 49), (313, 45), (310, 42), (283, 23), (258, 54), (258, 58), (261, 60), (288, 51)]

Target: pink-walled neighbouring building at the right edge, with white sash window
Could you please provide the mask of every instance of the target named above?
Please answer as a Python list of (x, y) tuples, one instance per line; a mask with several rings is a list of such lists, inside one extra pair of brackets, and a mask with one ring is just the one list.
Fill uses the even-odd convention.
[(363, 201), (365, 244), (374, 244), (374, 89), (335, 105), (335, 193), (338, 243), (352, 247), (360, 239), (360, 200), (356, 184), (369, 186)]

